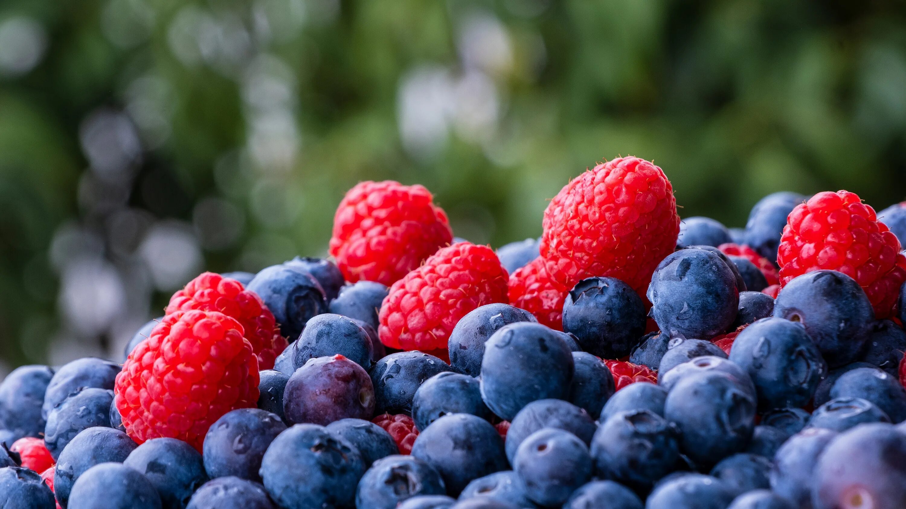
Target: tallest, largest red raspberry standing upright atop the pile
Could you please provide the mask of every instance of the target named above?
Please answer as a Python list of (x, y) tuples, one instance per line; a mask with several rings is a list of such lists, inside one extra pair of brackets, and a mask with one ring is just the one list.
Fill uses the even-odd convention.
[(673, 252), (679, 215), (658, 166), (620, 157), (581, 174), (545, 210), (541, 256), (561, 287), (582, 278), (618, 278), (639, 295)]

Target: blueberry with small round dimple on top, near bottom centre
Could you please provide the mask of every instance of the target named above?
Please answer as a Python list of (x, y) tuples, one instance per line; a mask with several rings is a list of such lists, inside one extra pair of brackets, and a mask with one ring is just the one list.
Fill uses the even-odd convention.
[(513, 470), (536, 504), (560, 506), (588, 482), (593, 462), (583, 441), (563, 429), (535, 431), (516, 449)]

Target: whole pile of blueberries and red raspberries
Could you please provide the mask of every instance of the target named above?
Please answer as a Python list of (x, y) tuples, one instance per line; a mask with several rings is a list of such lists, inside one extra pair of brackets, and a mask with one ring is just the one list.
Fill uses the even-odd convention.
[(206, 272), (124, 363), (0, 383), (0, 506), (906, 507), (906, 206), (775, 193), (680, 221), (636, 157), (539, 240), (363, 183), (328, 259)]

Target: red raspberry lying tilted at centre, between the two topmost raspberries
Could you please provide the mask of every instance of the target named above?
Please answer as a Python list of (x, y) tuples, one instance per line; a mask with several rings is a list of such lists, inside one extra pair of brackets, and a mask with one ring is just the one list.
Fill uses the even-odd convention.
[(494, 302), (507, 302), (506, 270), (494, 250), (458, 242), (393, 283), (378, 316), (378, 335), (391, 348), (447, 348), (459, 318)]

